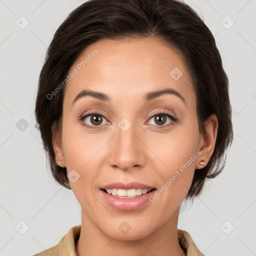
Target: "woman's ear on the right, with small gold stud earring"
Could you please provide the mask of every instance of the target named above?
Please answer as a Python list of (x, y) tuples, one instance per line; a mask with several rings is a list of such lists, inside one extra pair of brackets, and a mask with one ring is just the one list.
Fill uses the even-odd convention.
[[(218, 119), (215, 114), (211, 114), (205, 123), (205, 132), (204, 135), (201, 134), (199, 142), (199, 151), (201, 152), (198, 157), (198, 161), (195, 164), (196, 169), (201, 169), (207, 165), (209, 161), (216, 142), (217, 129), (218, 129)], [(203, 165), (199, 164), (200, 160), (204, 159)]]

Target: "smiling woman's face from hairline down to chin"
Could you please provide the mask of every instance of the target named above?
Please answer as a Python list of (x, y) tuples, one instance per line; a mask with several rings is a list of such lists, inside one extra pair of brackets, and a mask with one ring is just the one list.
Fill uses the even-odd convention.
[[(62, 136), (53, 139), (56, 159), (67, 168), (84, 219), (112, 237), (145, 237), (176, 219), (203, 158), (186, 66), (173, 48), (148, 37), (97, 41), (70, 70)], [(147, 94), (167, 88), (170, 93)], [(90, 94), (74, 101), (82, 90), (104, 93), (109, 100)], [(120, 183), (109, 185), (113, 182)], [(133, 198), (102, 190), (131, 182), (141, 183), (126, 186), (131, 197), (143, 186), (154, 190), (150, 197)], [(127, 195), (126, 190), (119, 194), (124, 191)], [(121, 232), (123, 227), (130, 230)]]

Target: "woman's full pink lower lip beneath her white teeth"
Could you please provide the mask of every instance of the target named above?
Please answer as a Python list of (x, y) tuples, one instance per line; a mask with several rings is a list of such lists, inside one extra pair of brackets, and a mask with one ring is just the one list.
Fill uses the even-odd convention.
[(146, 194), (137, 195), (133, 198), (119, 198), (112, 194), (108, 194), (100, 189), (100, 193), (105, 198), (106, 202), (117, 210), (136, 210), (146, 202), (149, 201), (149, 197), (153, 195), (155, 189)]

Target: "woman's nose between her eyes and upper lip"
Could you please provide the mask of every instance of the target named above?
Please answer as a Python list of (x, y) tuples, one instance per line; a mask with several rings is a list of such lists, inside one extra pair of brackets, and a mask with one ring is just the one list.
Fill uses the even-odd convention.
[(145, 165), (146, 146), (135, 127), (131, 125), (126, 130), (127, 125), (130, 124), (124, 121), (116, 127), (116, 135), (109, 141), (108, 161), (113, 168), (131, 171)]

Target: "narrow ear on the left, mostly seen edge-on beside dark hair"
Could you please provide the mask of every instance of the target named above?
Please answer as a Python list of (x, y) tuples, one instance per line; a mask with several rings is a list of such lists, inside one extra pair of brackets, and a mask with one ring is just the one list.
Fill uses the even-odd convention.
[[(56, 163), (60, 167), (65, 167), (65, 159), (62, 149), (62, 141), (61, 141), (61, 134), (59, 134), (59, 130), (57, 128), (56, 122), (51, 125), (51, 134), (52, 134), (52, 146), (55, 153), (55, 160)], [(59, 163), (61, 161), (61, 163)]]

